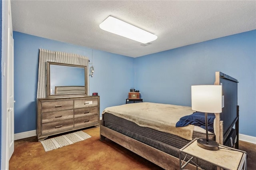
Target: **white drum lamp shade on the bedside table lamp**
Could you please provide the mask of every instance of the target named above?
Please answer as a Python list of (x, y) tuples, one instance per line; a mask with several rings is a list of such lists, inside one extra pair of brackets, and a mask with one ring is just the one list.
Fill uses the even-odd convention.
[(192, 110), (205, 113), (222, 112), (221, 85), (191, 86)]

